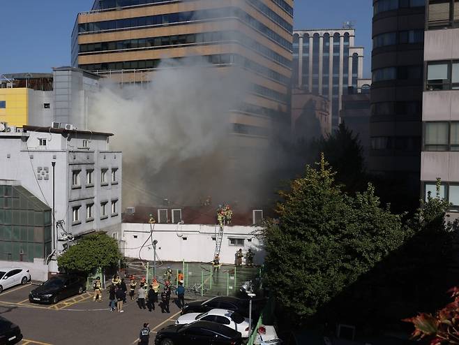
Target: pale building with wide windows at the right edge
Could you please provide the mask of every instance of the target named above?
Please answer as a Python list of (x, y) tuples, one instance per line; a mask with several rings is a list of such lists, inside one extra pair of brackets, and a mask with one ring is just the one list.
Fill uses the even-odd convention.
[(441, 196), (453, 210), (459, 207), (459, 2), (427, 1), (424, 45), (423, 196), (435, 196), (437, 178)]

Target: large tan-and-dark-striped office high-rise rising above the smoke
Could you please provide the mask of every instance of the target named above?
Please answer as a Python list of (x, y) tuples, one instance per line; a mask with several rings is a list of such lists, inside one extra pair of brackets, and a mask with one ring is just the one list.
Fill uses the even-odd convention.
[[(239, 144), (288, 122), (293, 0), (96, 0), (72, 34), (72, 63), (119, 82), (148, 82), (161, 59), (202, 56), (246, 70), (250, 96), (229, 117)], [(152, 77), (154, 78), (154, 76)], [(280, 115), (280, 117), (279, 117)], [(266, 140), (267, 141), (267, 140)]]

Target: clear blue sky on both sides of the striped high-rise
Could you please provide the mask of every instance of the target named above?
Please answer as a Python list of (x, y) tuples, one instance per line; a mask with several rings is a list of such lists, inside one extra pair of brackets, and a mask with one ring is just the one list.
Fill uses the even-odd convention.
[[(0, 74), (50, 73), (70, 65), (70, 36), (77, 13), (93, 0), (0, 0)], [(370, 76), (370, 0), (296, 0), (295, 29), (338, 29), (354, 21), (356, 45), (365, 47), (364, 76)]]

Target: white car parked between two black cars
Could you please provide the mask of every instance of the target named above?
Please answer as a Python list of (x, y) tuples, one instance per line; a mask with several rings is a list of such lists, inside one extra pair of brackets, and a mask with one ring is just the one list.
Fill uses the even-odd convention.
[(243, 338), (248, 338), (248, 318), (244, 318), (236, 311), (227, 310), (227, 309), (212, 309), (206, 313), (189, 313), (180, 316), (176, 325), (183, 325), (186, 323), (192, 323), (195, 321), (213, 321), (226, 325), (237, 332), (241, 332)]

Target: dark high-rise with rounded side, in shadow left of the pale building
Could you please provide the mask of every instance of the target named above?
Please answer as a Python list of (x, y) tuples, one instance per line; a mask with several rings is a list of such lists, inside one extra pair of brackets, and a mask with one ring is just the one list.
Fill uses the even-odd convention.
[(373, 0), (369, 169), (419, 195), (425, 0)]

